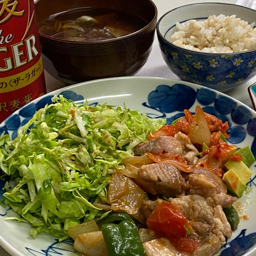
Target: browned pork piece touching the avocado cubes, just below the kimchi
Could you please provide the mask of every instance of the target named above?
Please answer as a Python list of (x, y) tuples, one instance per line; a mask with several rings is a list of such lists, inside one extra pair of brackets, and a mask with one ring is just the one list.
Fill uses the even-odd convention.
[(214, 204), (220, 204), (223, 208), (230, 207), (236, 201), (235, 196), (226, 194), (226, 184), (209, 170), (195, 168), (194, 173), (188, 176), (188, 185), (191, 187), (189, 194), (212, 197)]

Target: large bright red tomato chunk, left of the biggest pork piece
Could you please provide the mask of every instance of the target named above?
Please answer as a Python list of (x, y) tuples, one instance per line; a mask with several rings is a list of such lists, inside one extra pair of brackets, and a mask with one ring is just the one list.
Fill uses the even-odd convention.
[(169, 240), (182, 238), (186, 235), (186, 229), (191, 228), (188, 220), (179, 208), (167, 201), (161, 202), (152, 211), (146, 224), (154, 230), (156, 236), (165, 237)]

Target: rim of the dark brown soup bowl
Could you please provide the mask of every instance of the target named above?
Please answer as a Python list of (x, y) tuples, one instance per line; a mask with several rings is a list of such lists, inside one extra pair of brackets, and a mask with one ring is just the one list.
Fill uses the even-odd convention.
[[(35, 0), (35, 4), (37, 3), (37, 2), (39, 2), (40, 0)], [(158, 15), (158, 10), (157, 10), (157, 7), (156, 7), (156, 4), (153, 2), (153, 0), (146, 0), (146, 1), (148, 1), (152, 6), (153, 6), (153, 8), (154, 8), (154, 17), (152, 18), (152, 20), (148, 23), (148, 24), (146, 24), (146, 26), (144, 26), (143, 28), (141, 28), (140, 30), (137, 30), (137, 31), (135, 31), (135, 32), (132, 32), (132, 33), (130, 33), (130, 34), (128, 34), (128, 35), (125, 35), (125, 36), (120, 36), (120, 37), (117, 37), (117, 38), (112, 38), (112, 39), (106, 39), (106, 40), (94, 40), (94, 41), (83, 41), (83, 42), (81, 42), (81, 41), (74, 41), (74, 40), (64, 40), (64, 39), (60, 39), (60, 38), (54, 38), (54, 37), (52, 37), (52, 36), (48, 36), (48, 35), (46, 35), (46, 34), (43, 34), (43, 33), (41, 33), (41, 32), (39, 32), (38, 31), (38, 34), (39, 34), (39, 37), (43, 37), (43, 38), (47, 38), (47, 39), (50, 39), (50, 40), (53, 40), (53, 41), (55, 41), (55, 42), (60, 42), (60, 43), (68, 43), (68, 44), (84, 44), (84, 45), (86, 45), (86, 44), (91, 44), (91, 45), (93, 45), (93, 44), (106, 44), (106, 43), (114, 43), (114, 42), (116, 42), (116, 41), (118, 41), (118, 40), (120, 40), (120, 39), (122, 39), (122, 40), (126, 40), (126, 39), (130, 39), (130, 38), (132, 38), (134, 35), (136, 35), (136, 34), (138, 34), (138, 35), (140, 35), (142, 32), (144, 32), (144, 31), (146, 31), (147, 30), (147, 28), (150, 28), (151, 26), (153, 26), (154, 25), (154, 22), (157, 20), (157, 15)], [(68, 9), (68, 10), (71, 10), (71, 9)], [(68, 11), (68, 10), (66, 10), (66, 11)], [(65, 11), (64, 11), (65, 12)]]

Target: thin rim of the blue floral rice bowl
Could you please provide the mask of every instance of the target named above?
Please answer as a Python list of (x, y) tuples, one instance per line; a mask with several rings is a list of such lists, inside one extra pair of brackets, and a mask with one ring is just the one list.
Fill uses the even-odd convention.
[[(182, 5), (182, 6), (178, 6), (176, 8), (173, 8), (172, 10), (169, 10), (168, 12), (164, 13), (158, 20), (158, 22), (156, 23), (156, 33), (158, 35), (158, 37), (161, 38), (161, 40), (163, 40), (166, 44), (170, 44), (171, 46), (173, 47), (176, 47), (180, 50), (186, 50), (188, 52), (190, 52), (191, 54), (202, 54), (202, 55), (213, 55), (213, 56), (217, 56), (217, 55), (220, 55), (220, 54), (228, 54), (228, 55), (237, 55), (237, 54), (244, 54), (244, 53), (249, 53), (249, 52), (254, 52), (256, 49), (253, 49), (253, 50), (248, 50), (248, 51), (244, 51), (244, 52), (200, 52), (200, 51), (193, 51), (193, 50), (190, 50), (190, 49), (187, 49), (187, 48), (184, 48), (184, 47), (181, 47), (181, 46), (178, 46), (177, 44), (173, 44), (170, 40), (167, 40), (163, 35), (162, 33), (160, 32), (159, 30), (159, 26), (160, 26), (160, 22), (161, 20), (166, 16), (168, 15), (170, 12), (176, 10), (176, 9), (181, 9), (181, 8), (184, 8), (184, 7), (187, 7), (187, 6), (194, 6), (194, 5), (209, 5), (209, 4), (212, 4), (212, 5), (227, 5), (227, 6), (236, 6), (235, 8), (244, 8), (244, 9), (249, 9), (249, 10), (253, 10), (254, 12), (256, 12), (256, 10), (252, 9), (252, 8), (249, 8), (249, 7), (246, 7), (246, 6), (241, 6), (241, 5), (238, 5), (238, 4), (230, 4), (230, 3), (222, 3), (222, 2), (199, 2), (199, 3), (192, 3), (192, 4), (185, 4), (185, 5)], [(191, 20), (191, 19), (188, 19), (188, 20)], [(171, 28), (173, 28), (174, 26), (176, 26), (175, 24), (173, 26), (171, 26), (166, 32), (168, 32)], [(166, 33), (165, 32), (165, 33)]]

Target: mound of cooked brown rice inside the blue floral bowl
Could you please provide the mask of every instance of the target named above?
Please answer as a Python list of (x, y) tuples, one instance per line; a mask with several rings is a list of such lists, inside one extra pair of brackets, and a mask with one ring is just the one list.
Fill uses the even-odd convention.
[(244, 52), (256, 49), (253, 26), (236, 15), (211, 15), (206, 20), (176, 22), (178, 31), (172, 34), (171, 42), (200, 52)]

